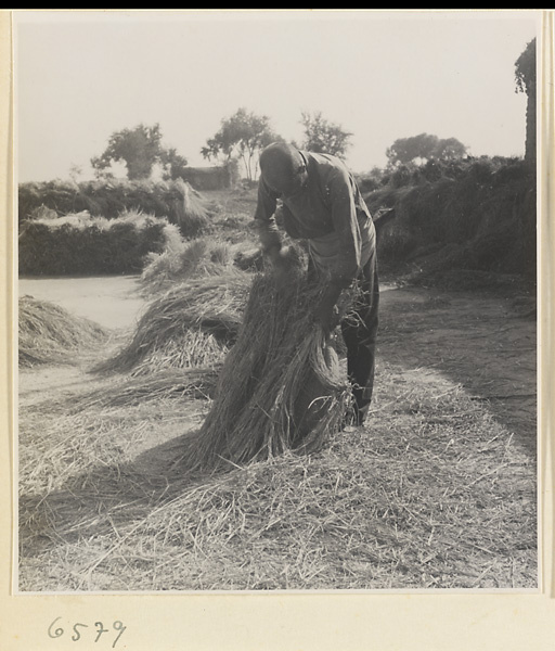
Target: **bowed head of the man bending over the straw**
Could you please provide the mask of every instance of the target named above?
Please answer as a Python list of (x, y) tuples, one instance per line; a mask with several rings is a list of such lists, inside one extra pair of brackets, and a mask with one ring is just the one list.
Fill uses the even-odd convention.
[(270, 190), (285, 199), (302, 189), (308, 174), (300, 152), (284, 142), (274, 142), (263, 150), (260, 173)]

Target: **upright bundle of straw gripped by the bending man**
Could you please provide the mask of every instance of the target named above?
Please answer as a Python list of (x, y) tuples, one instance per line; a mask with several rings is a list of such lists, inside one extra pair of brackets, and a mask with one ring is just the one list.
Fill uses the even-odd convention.
[(313, 451), (337, 431), (351, 392), (331, 340), (312, 317), (322, 288), (293, 267), (287, 282), (256, 276), (212, 408), (183, 462), (194, 469)]

